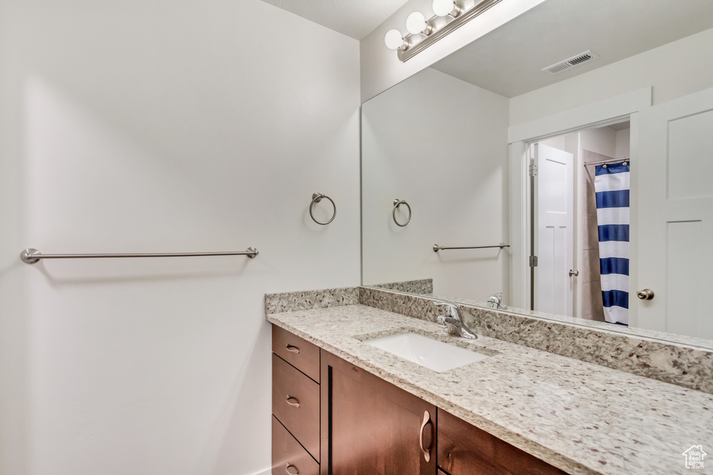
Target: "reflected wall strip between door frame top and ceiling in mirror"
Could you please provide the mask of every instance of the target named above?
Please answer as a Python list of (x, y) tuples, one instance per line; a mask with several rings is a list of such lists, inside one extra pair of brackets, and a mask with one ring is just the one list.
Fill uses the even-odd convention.
[(713, 29), (510, 100), (510, 125), (653, 86), (652, 104), (713, 84)]

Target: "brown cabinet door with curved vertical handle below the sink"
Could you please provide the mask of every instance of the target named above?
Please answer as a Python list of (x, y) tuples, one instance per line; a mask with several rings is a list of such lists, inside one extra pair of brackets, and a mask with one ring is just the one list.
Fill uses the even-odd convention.
[(321, 388), (322, 475), (436, 473), (434, 405), (324, 350)]

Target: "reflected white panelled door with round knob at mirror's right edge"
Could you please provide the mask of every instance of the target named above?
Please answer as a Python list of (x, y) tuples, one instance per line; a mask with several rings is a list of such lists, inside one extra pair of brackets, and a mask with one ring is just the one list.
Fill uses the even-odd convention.
[[(713, 338), (713, 88), (638, 114), (637, 326)], [(634, 122), (632, 122), (633, 124)], [(649, 288), (652, 300), (637, 298)]]

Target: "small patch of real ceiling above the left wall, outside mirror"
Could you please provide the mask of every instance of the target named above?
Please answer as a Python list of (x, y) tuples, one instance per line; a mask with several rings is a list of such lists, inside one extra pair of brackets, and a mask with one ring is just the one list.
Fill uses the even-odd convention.
[(408, 0), (262, 0), (360, 40)]

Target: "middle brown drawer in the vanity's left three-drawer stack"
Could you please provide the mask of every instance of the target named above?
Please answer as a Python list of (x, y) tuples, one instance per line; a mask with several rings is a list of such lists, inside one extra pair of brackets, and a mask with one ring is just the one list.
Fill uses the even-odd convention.
[(274, 353), (272, 414), (319, 461), (319, 385)]

